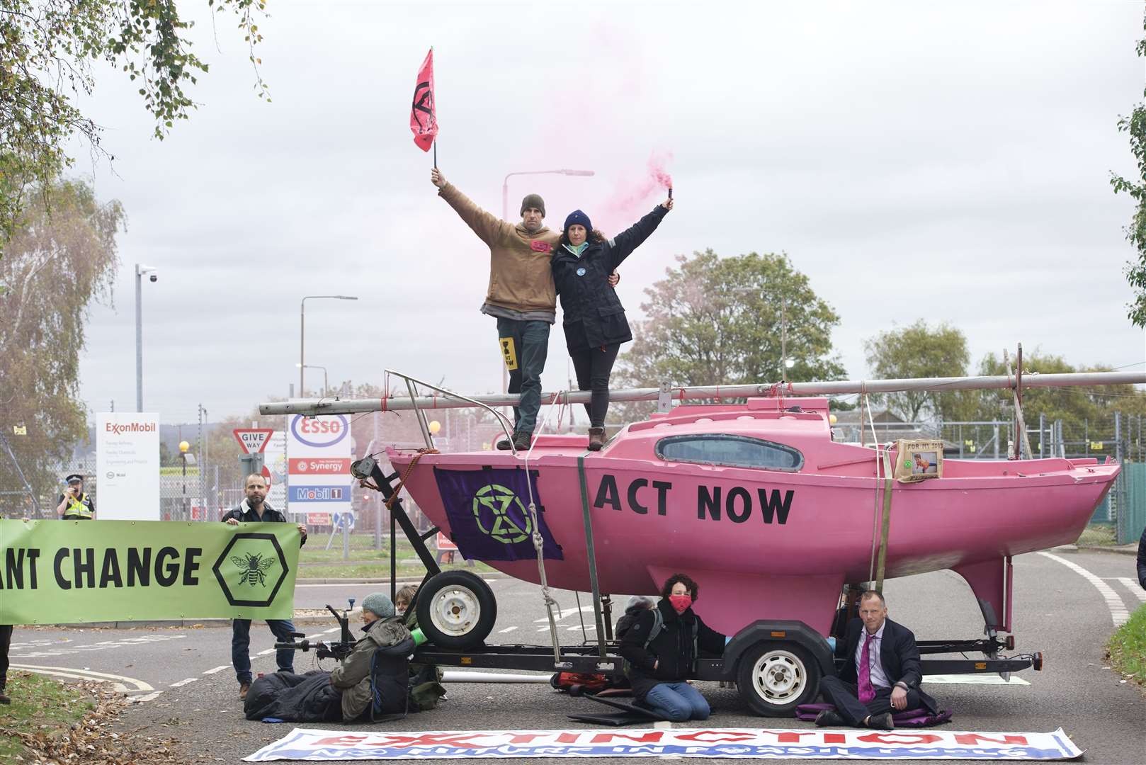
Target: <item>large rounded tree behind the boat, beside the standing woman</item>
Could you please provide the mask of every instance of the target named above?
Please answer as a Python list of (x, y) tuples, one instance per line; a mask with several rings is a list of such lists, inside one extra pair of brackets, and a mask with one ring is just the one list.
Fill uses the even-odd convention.
[[(816, 296), (786, 255), (749, 252), (721, 258), (711, 249), (645, 289), (647, 319), (637, 322), (631, 349), (621, 357), (622, 378), (642, 387), (661, 381), (716, 385), (788, 380), (840, 380), (832, 354), (839, 315)], [(787, 354), (782, 361), (782, 323)]]

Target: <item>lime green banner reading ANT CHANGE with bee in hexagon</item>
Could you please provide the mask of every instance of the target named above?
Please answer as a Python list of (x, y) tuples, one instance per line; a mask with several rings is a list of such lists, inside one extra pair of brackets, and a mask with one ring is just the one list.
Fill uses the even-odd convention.
[(0, 624), (289, 619), (293, 523), (0, 521)]

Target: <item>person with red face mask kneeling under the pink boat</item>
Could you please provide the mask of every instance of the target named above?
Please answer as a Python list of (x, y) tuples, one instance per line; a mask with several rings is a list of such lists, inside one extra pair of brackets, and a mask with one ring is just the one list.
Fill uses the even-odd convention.
[(701, 651), (720, 656), (727, 641), (692, 612), (697, 595), (696, 581), (674, 573), (657, 607), (641, 614), (621, 640), (637, 703), (674, 723), (708, 719), (708, 702), (686, 680), (696, 674)]

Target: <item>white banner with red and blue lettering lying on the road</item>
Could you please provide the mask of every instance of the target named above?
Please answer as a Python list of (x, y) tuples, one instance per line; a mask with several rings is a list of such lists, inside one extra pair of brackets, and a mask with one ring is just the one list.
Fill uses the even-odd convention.
[(493, 759), (565, 757), (722, 757), (727, 759), (1074, 759), (1062, 728), (1052, 733), (825, 731), (761, 728), (580, 728), (390, 733), (295, 728), (249, 763), (275, 759)]

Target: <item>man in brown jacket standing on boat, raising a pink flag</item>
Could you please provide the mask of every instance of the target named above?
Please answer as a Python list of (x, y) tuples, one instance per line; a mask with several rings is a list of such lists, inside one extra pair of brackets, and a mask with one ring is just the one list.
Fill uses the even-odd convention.
[[(545, 228), (545, 203), (536, 194), (521, 200), (521, 223), (501, 220), (457, 190), (434, 167), (430, 181), (473, 233), (489, 247), (489, 288), (481, 313), (497, 319), (497, 342), (509, 369), (509, 393), (520, 393), (513, 407), (513, 447), (529, 448), (541, 408), (541, 372), (549, 352), (549, 327), (557, 317), (557, 291), (550, 271), (560, 232)], [(617, 284), (619, 276), (610, 278)], [(509, 448), (501, 439), (497, 448)]]

